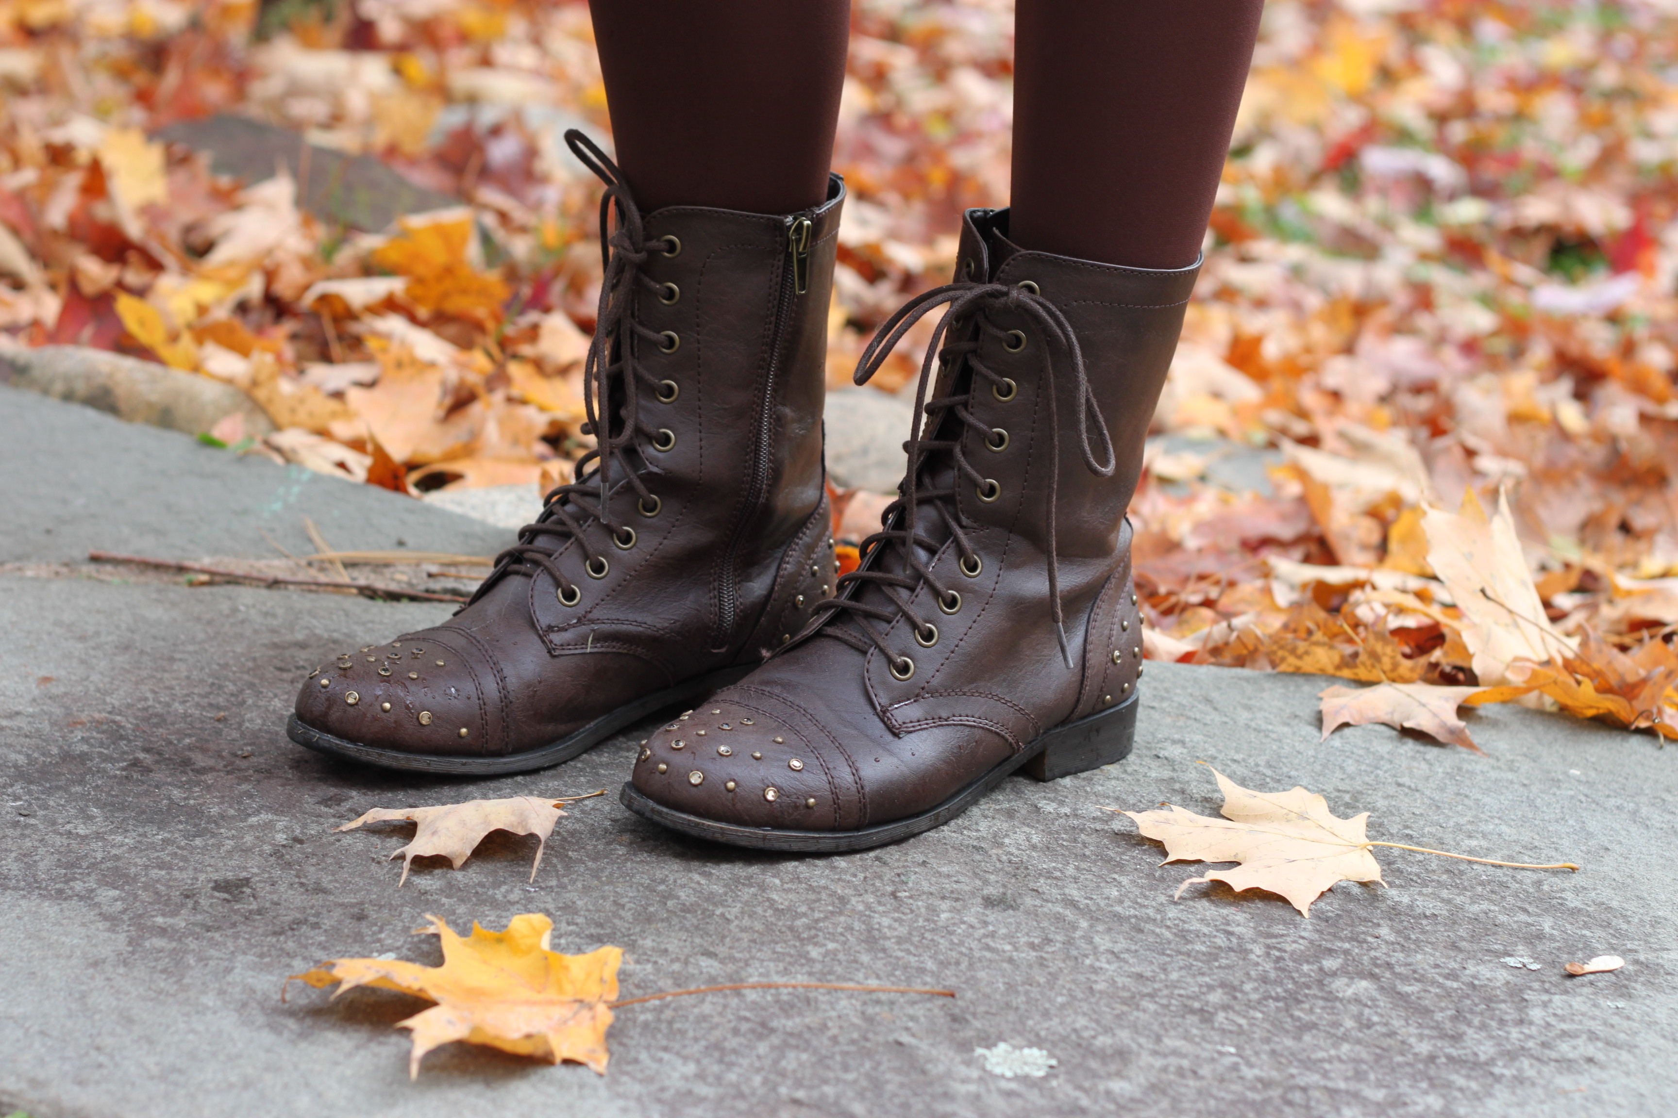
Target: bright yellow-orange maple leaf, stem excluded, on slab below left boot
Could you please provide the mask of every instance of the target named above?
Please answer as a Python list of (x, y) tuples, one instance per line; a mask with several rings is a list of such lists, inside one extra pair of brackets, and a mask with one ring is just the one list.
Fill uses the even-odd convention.
[(337, 994), (357, 986), (378, 986), (436, 1006), (396, 1022), (413, 1033), (408, 1076), (420, 1061), (450, 1041), (488, 1044), (503, 1053), (559, 1063), (587, 1064), (606, 1074), (609, 1002), (618, 999), (621, 947), (601, 947), (586, 955), (549, 950), (554, 922), (539, 912), (512, 919), (505, 932), (472, 925), (461, 939), (441, 917), (416, 935), (443, 942), (443, 965), (423, 967), (401, 959), (332, 959), (294, 979), (322, 989), (337, 982)]

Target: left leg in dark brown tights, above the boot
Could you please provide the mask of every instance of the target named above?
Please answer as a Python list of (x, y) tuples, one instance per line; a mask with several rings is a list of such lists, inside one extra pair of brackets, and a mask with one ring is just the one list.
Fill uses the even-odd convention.
[(618, 164), (643, 213), (827, 196), (849, 0), (589, 0)]

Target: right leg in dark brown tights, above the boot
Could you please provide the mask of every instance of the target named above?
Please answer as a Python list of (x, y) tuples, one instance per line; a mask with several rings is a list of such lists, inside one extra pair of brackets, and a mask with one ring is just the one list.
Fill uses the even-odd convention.
[(1014, 213), (1024, 248), (1195, 263), (1264, 0), (1019, 0)]

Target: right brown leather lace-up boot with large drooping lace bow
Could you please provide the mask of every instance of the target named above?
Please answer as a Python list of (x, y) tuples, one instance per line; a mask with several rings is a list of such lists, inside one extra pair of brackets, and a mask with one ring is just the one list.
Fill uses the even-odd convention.
[(970, 210), (956, 267), (857, 370), (950, 305), (862, 567), (792, 644), (649, 738), (633, 811), (742, 846), (859, 850), (946, 823), (1015, 769), (1054, 779), (1129, 753), (1143, 642), (1124, 510), (1200, 265), (1022, 251), (1007, 211)]

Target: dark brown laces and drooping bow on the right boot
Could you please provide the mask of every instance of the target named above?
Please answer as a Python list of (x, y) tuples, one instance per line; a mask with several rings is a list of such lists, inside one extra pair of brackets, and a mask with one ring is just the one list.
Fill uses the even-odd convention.
[[(1107, 434), (1107, 424), (1101, 417), (1101, 409), (1096, 402), (1096, 394), (1089, 387), (1089, 374), (1084, 367), (1084, 350), (1077, 344), (1077, 334), (1072, 330), (1072, 323), (1067, 322), (1060, 308), (1039, 293), (1034, 293), (1022, 287), (1014, 287), (1008, 283), (972, 283), (958, 282), (946, 283), (945, 287), (925, 292), (908, 303), (904, 303), (886, 323), (874, 334), (874, 340), (868, 344), (862, 352), (862, 359), (857, 362), (856, 375), (852, 377), (856, 384), (868, 384), (868, 380), (879, 370), (891, 350), (903, 340), (903, 335), (920, 322), (926, 313), (940, 305), (948, 303), (948, 312), (933, 330), (931, 342), (926, 345), (926, 355), (921, 359), (921, 375), (920, 384), (915, 389), (915, 427), (909, 432), (909, 441), (903, 444), (908, 453), (908, 473), (904, 474), (903, 491), (896, 501), (886, 506), (881, 515), (881, 531), (876, 531), (862, 541), (862, 567), (856, 572), (844, 575), (836, 583), (836, 590), (842, 597), (827, 598), (816, 603), (816, 617), (812, 619), (810, 629), (826, 625), (827, 620), (839, 615), (852, 615), (857, 629), (864, 635), (847, 630), (841, 625), (826, 625), (822, 635), (844, 640), (857, 652), (868, 652), (869, 642), (878, 647), (886, 659), (896, 665), (899, 662), (899, 654), (894, 652), (886, 639), (876, 630), (868, 619), (891, 624), (899, 615), (906, 617), (915, 632), (923, 635), (931, 627), (931, 622), (925, 620), (911, 605), (909, 598), (923, 587), (933, 590), (935, 600), (946, 603), (955, 595), (960, 602), (960, 595), (921, 560), (921, 548), (928, 553), (938, 551), (938, 541), (931, 540), (916, 531), (918, 513), (923, 503), (930, 503), (936, 508), (945, 528), (950, 533), (950, 540), (955, 543), (960, 553), (960, 565), (965, 568), (975, 568), (980, 565), (980, 556), (973, 550), (973, 543), (968, 538), (968, 528), (972, 525), (961, 523), (961, 513), (955, 501), (956, 488), (961, 479), (973, 483), (975, 486), (983, 486), (985, 478), (978, 469), (967, 461), (967, 454), (961, 451), (961, 436), (967, 429), (978, 431), (983, 437), (990, 437), (992, 431), (972, 412), (973, 396), (982, 387), (1000, 389), (1007, 384), (1007, 377), (992, 370), (978, 357), (980, 340), (983, 337), (1007, 339), (1008, 330), (1003, 330), (990, 322), (988, 313), (997, 310), (1012, 310), (1024, 313), (1032, 323), (1035, 323), (1044, 334), (1044, 345), (1037, 347), (1037, 364), (1042, 372), (1042, 392), (1049, 399), (1049, 613), (1054, 622), (1055, 640), (1060, 645), (1060, 659), (1066, 665), (1072, 667), (1072, 652), (1066, 640), (1066, 625), (1062, 622), (1060, 608), (1060, 580), (1059, 580), (1059, 551), (1055, 540), (1055, 505), (1060, 483), (1060, 417), (1059, 406), (1055, 402), (1055, 362), (1054, 352), (1060, 350), (1069, 357), (1069, 374), (1077, 389), (1079, 399), (1079, 446), (1084, 454), (1084, 464), (1097, 478), (1111, 478), (1116, 464), (1113, 453), (1113, 439)], [(946, 340), (953, 337), (951, 330), (963, 329), (968, 315), (972, 315), (978, 329), (960, 340)], [(936, 357), (936, 364), (935, 364)], [(955, 375), (950, 379), (951, 389), (960, 384), (960, 369), (955, 369), (953, 362), (967, 360), (970, 370), (970, 379), (967, 382), (965, 392), (953, 392), (951, 396), (941, 396), (933, 401), (926, 399), (926, 391), (931, 382), (935, 382), (935, 369), (946, 364), (951, 365)], [(1017, 389), (1015, 389), (1017, 391)], [(936, 434), (940, 426), (945, 424), (945, 416), (955, 416), (961, 427), (956, 429), (951, 437), (931, 439), (928, 434)], [(1091, 446), (1091, 437), (1094, 436), (1094, 444), (1101, 451), (1097, 458), (1096, 449)], [(930, 489), (923, 488), (925, 476), (931, 476), (941, 461), (951, 461), (955, 466), (955, 476), (950, 488)], [(898, 525), (896, 528), (893, 525)], [(891, 560), (898, 558), (898, 563)], [(884, 605), (874, 605), (862, 602), (861, 592), (864, 587), (878, 587), (879, 592), (891, 600), (896, 608)], [(936, 630), (935, 630), (936, 632)]]

